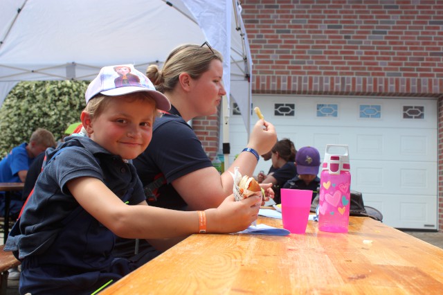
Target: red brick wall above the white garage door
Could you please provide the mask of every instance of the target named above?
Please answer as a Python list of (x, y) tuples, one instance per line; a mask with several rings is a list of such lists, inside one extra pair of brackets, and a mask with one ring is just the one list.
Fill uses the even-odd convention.
[(244, 0), (242, 8), (254, 93), (443, 93), (443, 1)]

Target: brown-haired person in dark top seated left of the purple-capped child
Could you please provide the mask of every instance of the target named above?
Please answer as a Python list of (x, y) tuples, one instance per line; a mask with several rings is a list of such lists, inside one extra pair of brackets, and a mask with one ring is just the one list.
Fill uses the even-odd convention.
[(273, 172), (272, 175), (268, 175), (262, 181), (262, 184), (273, 184), (274, 202), (280, 204), (280, 188), (282, 188), (286, 181), (297, 175), (296, 163), (294, 163), (297, 150), (292, 141), (288, 138), (283, 138), (275, 143), (271, 152), (272, 166), (278, 170)]

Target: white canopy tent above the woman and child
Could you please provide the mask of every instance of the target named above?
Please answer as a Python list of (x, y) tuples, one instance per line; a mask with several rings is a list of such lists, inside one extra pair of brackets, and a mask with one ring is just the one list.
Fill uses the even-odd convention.
[(226, 91), (249, 132), (251, 54), (240, 12), (235, 0), (1, 0), (0, 106), (21, 80), (91, 80), (102, 66), (126, 63), (144, 72), (176, 46), (206, 40), (224, 56)]

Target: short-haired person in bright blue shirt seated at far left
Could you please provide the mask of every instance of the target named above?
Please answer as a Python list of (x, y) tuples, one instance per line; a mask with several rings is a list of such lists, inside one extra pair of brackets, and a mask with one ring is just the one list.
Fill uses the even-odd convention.
[[(12, 148), (10, 153), (0, 161), (0, 182), (25, 182), (30, 165), (35, 157), (42, 154), (46, 148), (55, 146), (55, 138), (51, 132), (37, 128), (30, 136), (29, 143)], [(0, 192), (0, 215), (3, 216), (5, 198)], [(21, 192), (11, 198), (10, 216), (17, 217), (23, 206)]]

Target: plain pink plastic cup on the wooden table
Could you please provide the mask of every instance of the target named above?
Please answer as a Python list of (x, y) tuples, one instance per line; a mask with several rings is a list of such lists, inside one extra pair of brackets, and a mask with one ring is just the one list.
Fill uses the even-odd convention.
[(283, 228), (291, 233), (305, 233), (311, 209), (312, 190), (280, 189)]

